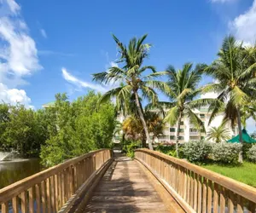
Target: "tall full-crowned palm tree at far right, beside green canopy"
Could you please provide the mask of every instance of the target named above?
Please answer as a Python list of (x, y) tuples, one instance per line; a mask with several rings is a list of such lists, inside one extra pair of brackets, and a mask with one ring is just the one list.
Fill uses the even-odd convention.
[(224, 38), (218, 52), (218, 60), (213, 61), (205, 70), (217, 80), (217, 83), (208, 84), (204, 91), (218, 93), (218, 102), (210, 106), (212, 116), (209, 123), (224, 108), (224, 120), (229, 119), (232, 126), (238, 125), (240, 142), (241, 107), (256, 93), (255, 68), (256, 63), (252, 55), (248, 54), (242, 43), (236, 42), (235, 37), (229, 36)]

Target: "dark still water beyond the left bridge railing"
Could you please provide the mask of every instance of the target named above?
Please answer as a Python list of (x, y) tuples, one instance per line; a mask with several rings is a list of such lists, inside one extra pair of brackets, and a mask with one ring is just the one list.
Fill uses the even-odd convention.
[(43, 170), (39, 158), (0, 162), (0, 189)]

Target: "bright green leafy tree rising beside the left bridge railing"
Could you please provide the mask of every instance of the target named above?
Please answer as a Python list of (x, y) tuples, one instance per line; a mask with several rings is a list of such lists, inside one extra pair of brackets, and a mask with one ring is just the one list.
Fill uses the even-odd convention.
[(113, 104), (96, 108), (101, 95), (89, 92), (69, 102), (67, 95), (56, 95), (55, 107), (49, 108), (49, 139), (40, 157), (49, 166), (99, 148), (112, 147), (115, 128)]

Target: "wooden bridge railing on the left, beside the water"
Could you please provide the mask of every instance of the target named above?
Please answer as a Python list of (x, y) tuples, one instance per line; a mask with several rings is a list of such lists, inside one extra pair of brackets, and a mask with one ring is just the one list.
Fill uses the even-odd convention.
[(67, 160), (0, 190), (2, 213), (54, 213), (67, 204), (84, 181), (112, 158), (101, 149)]

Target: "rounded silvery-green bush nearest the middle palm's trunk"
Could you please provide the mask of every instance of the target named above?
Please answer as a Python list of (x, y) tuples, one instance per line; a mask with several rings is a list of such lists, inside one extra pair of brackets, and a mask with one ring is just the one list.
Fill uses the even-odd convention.
[(201, 162), (207, 159), (212, 146), (206, 141), (189, 141), (184, 144), (183, 156), (190, 162)]

